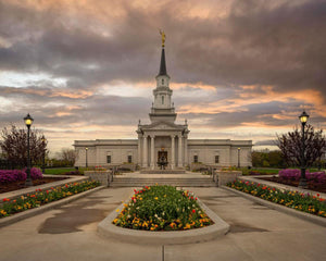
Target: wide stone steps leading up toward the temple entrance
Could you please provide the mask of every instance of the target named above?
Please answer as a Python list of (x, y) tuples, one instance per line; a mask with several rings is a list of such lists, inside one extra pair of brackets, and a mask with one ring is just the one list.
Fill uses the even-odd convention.
[(216, 187), (211, 176), (206, 175), (128, 175), (114, 176), (111, 187), (142, 187), (152, 185), (171, 185), (177, 187)]

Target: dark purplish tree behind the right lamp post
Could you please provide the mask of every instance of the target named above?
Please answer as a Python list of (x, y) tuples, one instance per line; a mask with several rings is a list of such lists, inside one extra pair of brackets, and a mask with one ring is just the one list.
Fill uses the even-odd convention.
[[(304, 145), (305, 145), (305, 166), (312, 166), (318, 160), (326, 148), (325, 136), (323, 129), (315, 130), (310, 124), (304, 127)], [(290, 166), (302, 166), (302, 133), (294, 128), (280, 136), (277, 135), (276, 145), (280, 149), (284, 160)]]

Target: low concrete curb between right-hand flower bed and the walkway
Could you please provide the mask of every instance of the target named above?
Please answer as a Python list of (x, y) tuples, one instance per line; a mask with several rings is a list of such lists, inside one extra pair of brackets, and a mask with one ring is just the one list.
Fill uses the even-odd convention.
[(242, 192), (240, 190), (237, 190), (237, 189), (234, 189), (234, 188), (230, 188), (230, 187), (227, 187), (227, 186), (222, 186), (222, 188), (226, 189), (228, 191), (233, 191), (234, 194), (238, 194), (238, 195), (242, 196), (243, 198), (250, 199), (251, 201), (263, 204), (263, 206), (265, 206), (269, 209), (274, 209), (276, 211), (284, 212), (286, 214), (289, 214), (289, 215), (302, 219), (304, 221), (309, 221), (309, 222), (312, 222), (314, 224), (326, 227), (326, 219), (325, 217), (313, 215), (313, 214), (302, 212), (302, 211), (299, 211), (299, 210), (296, 210), (296, 209), (291, 209), (289, 207), (285, 207), (283, 204), (278, 204), (278, 203), (275, 203), (275, 202), (271, 202), (268, 200), (261, 199), (259, 197), (252, 196), (252, 195), (247, 194), (247, 192)]

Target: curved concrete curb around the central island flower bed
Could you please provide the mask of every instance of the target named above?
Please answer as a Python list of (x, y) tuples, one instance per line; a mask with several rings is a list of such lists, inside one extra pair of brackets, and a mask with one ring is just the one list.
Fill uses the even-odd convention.
[(200, 200), (198, 200), (198, 203), (214, 222), (213, 225), (174, 232), (151, 232), (124, 228), (112, 224), (112, 221), (118, 214), (116, 210), (122, 210), (124, 208), (124, 204), (122, 203), (98, 224), (98, 233), (103, 237), (114, 238), (124, 243), (151, 245), (192, 244), (213, 240), (220, 236), (226, 235), (229, 231), (229, 224), (222, 220)]

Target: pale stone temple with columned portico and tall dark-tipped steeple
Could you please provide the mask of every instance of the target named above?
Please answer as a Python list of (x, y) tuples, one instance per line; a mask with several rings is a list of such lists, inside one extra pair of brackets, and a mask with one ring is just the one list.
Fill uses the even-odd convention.
[(251, 140), (188, 139), (190, 130), (187, 120), (183, 124), (176, 123), (163, 37), (150, 123), (141, 124), (139, 121), (137, 139), (75, 140), (76, 166), (110, 167), (134, 163), (142, 170), (183, 170), (196, 163), (211, 166), (251, 165)]

